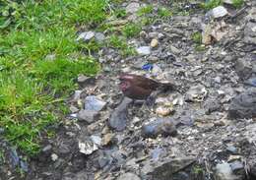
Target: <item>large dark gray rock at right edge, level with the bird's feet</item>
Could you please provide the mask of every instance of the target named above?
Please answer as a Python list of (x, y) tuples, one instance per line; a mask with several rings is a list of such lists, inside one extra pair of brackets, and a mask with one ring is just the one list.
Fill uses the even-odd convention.
[(256, 117), (256, 90), (246, 90), (231, 100), (228, 117), (253, 118)]

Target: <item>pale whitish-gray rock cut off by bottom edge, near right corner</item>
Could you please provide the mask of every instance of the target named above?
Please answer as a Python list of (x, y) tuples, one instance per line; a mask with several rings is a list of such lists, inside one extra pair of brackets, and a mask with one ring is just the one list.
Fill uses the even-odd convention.
[(238, 177), (232, 173), (230, 165), (226, 162), (216, 165), (217, 180), (238, 180)]

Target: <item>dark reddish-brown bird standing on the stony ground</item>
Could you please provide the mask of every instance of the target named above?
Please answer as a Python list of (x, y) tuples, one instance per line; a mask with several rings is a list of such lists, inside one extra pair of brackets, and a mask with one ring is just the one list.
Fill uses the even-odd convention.
[(163, 84), (143, 76), (122, 74), (119, 88), (123, 94), (132, 99), (147, 99), (155, 91), (176, 90), (172, 84)]

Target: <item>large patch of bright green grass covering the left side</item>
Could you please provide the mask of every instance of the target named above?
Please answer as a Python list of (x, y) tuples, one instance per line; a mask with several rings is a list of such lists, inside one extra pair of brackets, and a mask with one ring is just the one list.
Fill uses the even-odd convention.
[[(64, 99), (79, 74), (96, 75), (90, 56), (102, 44), (76, 41), (77, 27), (100, 26), (110, 14), (104, 0), (44, 0), (2, 4), (0, 14), (0, 127), (27, 155), (40, 150), (51, 125), (67, 113)], [(7, 22), (7, 23), (6, 23)], [(127, 47), (127, 46), (126, 46)], [(124, 47), (122, 47), (124, 48)], [(47, 59), (53, 55), (54, 59)]]

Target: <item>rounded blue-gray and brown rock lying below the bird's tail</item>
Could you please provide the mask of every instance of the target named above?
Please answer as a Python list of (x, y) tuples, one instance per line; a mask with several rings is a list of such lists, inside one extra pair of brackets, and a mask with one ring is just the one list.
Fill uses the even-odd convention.
[(159, 118), (150, 124), (142, 126), (142, 136), (144, 138), (157, 138), (162, 136), (175, 136), (177, 130), (172, 119)]

